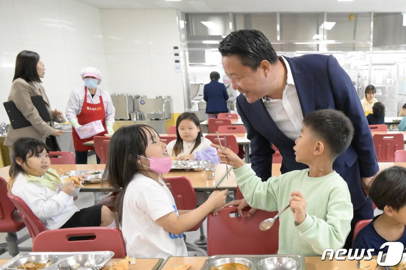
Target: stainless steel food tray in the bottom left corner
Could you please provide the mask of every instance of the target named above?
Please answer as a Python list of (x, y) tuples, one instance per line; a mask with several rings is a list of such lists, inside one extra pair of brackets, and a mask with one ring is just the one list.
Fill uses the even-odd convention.
[[(4, 263), (1, 267), (17, 268), (26, 261), (45, 263), (51, 259), (52, 265), (42, 269), (69, 270), (75, 263), (84, 266), (86, 261), (92, 263), (92, 266), (104, 266), (109, 259), (114, 256), (112, 251), (90, 251), (90, 252), (28, 252), (20, 254)], [(93, 264), (94, 263), (94, 264)], [(90, 269), (90, 268), (89, 268)], [(86, 270), (86, 268), (80, 268)]]

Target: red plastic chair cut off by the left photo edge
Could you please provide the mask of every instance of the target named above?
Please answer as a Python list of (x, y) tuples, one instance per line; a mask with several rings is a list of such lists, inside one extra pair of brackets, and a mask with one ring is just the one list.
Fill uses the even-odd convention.
[(24, 222), (20, 219), (17, 209), (13, 202), (6, 196), (7, 182), (4, 178), (0, 177), (0, 233), (7, 233), (6, 242), (0, 244), (0, 254), (9, 251), (11, 256), (16, 256), (19, 251), (30, 251), (30, 248), (19, 248), (21, 244), (30, 236), (24, 235), (17, 239), (17, 231), (25, 227)]

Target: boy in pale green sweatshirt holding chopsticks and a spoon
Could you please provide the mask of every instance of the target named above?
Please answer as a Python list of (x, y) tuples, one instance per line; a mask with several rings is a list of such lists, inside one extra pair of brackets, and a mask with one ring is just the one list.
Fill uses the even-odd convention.
[(324, 109), (307, 114), (294, 150), (296, 161), (309, 169), (287, 172), (266, 182), (261, 182), (233, 151), (212, 146), (218, 149), (222, 163), (234, 166), (248, 205), (281, 211), (290, 204), (292, 213), (279, 216), (278, 254), (315, 256), (326, 248), (341, 248), (350, 232), (350, 192), (333, 170), (333, 162), (348, 148), (353, 134), (350, 119), (340, 111)]

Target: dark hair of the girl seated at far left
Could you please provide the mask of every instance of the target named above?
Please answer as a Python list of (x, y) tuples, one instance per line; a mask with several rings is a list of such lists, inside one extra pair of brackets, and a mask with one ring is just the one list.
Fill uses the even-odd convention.
[(22, 137), (17, 139), (13, 144), (13, 158), (9, 170), (10, 181), (7, 184), (7, 189), (11, 192), (14, 179), (19, 173), (26, 174), (24, 169), (15, 161), (17, 157), (21, 158), (23, 163), (26, 163), (27, 159), (40, 154), (43, 150), (49, 153), (48, 147), (39, 139)]

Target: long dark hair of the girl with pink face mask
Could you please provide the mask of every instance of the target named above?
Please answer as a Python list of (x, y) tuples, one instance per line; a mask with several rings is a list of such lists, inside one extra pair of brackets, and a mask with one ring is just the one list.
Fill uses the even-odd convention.
[(140, 171), (137, 165), (138, 155), (145, 156), (148, 134), (153, 136), (150, 130), (154, 129), (142, 124), (123, 126), (114, 132), (110, 139), (103, 179), (106, 179), (111, 187), (122, 189), (116, 199), (120, 224), (123, 220), (125, 190), (134, 175)]

